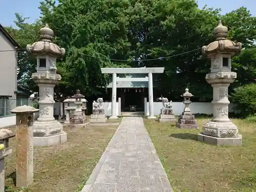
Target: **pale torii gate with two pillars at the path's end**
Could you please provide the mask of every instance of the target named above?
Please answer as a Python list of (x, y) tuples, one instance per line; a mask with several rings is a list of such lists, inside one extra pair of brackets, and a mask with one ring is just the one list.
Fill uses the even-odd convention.
[[(147, 118), (156, 118), (154, 116), (154, 99), (153, 99), (153, 73), (163, 73), (164, 68), (101, 68), (102, 74), (112, 74), (112, 109), (111, 119), (116, 116), (116, 84), (118, 81), (148, 81), (148, 103), (150, 106), (150, 115)], [(148, 74), (144, 78), (117, 78), (116, 74)]]

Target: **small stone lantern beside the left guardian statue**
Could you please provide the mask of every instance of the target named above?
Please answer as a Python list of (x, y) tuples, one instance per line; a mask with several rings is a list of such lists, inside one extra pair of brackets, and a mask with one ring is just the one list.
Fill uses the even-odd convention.
[(70, 118), (70, 124), (84, 124), (86, 123), (85, 115), (82, 112), (82, 98), (84, 96), (80, 93), (80, 90), (76, 91), (76, 94), (72, 96), (75, 99), (76, 104), (76, 110), (74, 112), (74, 115)]

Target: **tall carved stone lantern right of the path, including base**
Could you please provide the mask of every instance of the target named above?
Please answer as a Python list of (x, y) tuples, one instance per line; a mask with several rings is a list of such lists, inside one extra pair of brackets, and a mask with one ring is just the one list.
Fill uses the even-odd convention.
[(216, 40), (202, 47), (202, 53), (211, 60), (211, 71), (205, 79), (214, 92), (211, 101), (214, 117), (203, 126), (198, 140), (217, 145), (242, 145), (237, 126), (228, 118), (228, 87), (237, 77), (237, 73), (231, 72), (231, 57), (240, 53), (242, 44), (226, 39), (227, 31), (220, 21), (214, 29)]

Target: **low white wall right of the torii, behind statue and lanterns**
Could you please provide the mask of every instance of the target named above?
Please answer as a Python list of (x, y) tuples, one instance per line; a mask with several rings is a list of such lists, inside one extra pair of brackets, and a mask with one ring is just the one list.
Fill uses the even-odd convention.
[[(184, 110), (185, 104), (182, 102), (173, 102), (173, 111), (174, 115), (180, 115)], [(230, 103), (228, 106), (229, 112), (234, 112), (234, 104)], [(211, 102), (192, 102), (189, 104), (189, 108), (191, 113), (204, 113), (204, 114), (212, 114), (212, 104)], [(159, 115), (162, 109), (162, 102), (154, 102), (154, 115)], [(146, 103), (146, 115), (150, 115), (149, 104)]]

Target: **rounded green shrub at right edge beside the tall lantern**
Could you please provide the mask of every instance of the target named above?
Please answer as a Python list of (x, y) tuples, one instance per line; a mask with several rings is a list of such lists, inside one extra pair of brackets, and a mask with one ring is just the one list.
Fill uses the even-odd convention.
[(235, 109), (241, 117), (253, 116), (256, 114), (256, 84), (250, 83), (234, 89), (230, 100), (237, 104)]

